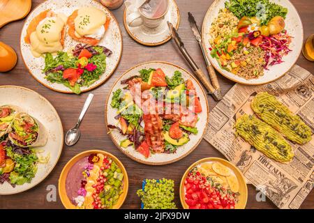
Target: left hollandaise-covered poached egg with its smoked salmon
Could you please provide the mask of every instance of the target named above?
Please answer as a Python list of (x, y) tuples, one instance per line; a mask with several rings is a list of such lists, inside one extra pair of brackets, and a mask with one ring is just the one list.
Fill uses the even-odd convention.
[(44, 53), (55, 53), (63, 49), (66, 20), (66, 15), (56, 14), (51, 10), (45, 10), (33, 18), (24, 38), (31, 45), (33, 56), (39, 57)]

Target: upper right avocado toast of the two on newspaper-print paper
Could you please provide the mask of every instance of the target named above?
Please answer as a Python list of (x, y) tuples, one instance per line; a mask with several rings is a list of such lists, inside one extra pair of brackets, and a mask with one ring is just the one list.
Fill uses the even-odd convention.
[(292, 114), (274, 95), (267, 92), (257, 93), (251, 107), (262, 121), (281, 132), (287, 139), (297, 144), (311, 141), (311, 128), (301, 121), (299, 116)]

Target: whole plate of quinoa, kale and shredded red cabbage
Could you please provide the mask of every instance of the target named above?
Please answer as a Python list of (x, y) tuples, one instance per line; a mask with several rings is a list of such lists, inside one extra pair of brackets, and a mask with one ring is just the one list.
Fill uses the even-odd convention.
[(288, 0), (216, 0), (202, 26), (207, 57), (221, 75), (266, 84), (297, 61), (303, 26)]

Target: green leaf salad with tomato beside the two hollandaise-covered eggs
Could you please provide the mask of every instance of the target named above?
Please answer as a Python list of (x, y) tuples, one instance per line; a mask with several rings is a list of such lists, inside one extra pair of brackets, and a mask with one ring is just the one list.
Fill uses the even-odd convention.
[(63, 84), (73, 93), (80, 94), (82, 86), (94, 84), (106, 70), (106, 58), (112, 54), (103, 46), (78, 44), (72, 52), (45, 54), (45, 79)]

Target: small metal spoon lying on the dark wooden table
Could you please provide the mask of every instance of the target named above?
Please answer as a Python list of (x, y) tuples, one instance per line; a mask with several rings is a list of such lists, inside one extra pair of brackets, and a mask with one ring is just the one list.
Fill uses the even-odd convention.
[(80, 124), (81, 121), (85, 115), (85, 113), (87, 112), (87, 109), (89, 108), (89, 105), (91, 105), (91, 100), (93, 100), (94, 95), (92, 93), (89, 94), (89, 96), (87, 97), (87, 100), (85, 101), (84, 107), (82, 109), (82, 112), (80, 114), (80, 117), (75, 125), (74, 128), (71, 128), (70, 130), (68, 130), (68, 132), (66, 132), (66, 138), (65, 138), (65, 142), (67, 146), (73, 146), (74, 144), (77, 143), (77, 141), (80, 139)]

